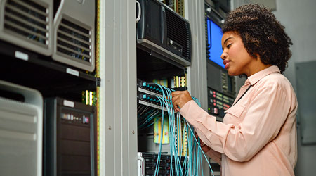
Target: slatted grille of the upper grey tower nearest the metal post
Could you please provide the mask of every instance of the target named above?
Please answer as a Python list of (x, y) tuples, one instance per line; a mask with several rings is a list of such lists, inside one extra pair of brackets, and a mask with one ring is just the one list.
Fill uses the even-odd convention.
[(57, 31), (57, 53), (77, 58), (88, 63), (91, 56), (91, 30), (63, 18)]

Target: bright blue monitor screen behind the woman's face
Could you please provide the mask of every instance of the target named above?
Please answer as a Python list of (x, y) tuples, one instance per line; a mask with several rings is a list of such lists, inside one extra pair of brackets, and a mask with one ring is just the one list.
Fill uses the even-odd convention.
[(220, 65), (221, 67), (225, 68), (225, 65), (223, 64), (223, 60), (220, 58), (220, 55), (223, 52), (222, 49), (222, 40), (223, 33), (218, 25), (214, 23), (212, 20), (207, 18), (207, 37), (209, 46), (211, 49), (209, 49), (209, 59), (213, 61), (214, 63)]

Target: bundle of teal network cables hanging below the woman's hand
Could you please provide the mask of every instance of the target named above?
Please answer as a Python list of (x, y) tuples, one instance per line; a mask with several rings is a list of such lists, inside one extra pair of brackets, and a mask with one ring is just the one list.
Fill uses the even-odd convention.
[[(171, 100), (171, 92), (173, 92), (173, 89), (169, 89), (166, 87), (163, 87), (159, 84), (157, 84), (160, 89), (162, 89), (162, 97), (156, 96), (157, 99), (159, 99), (160, 105), (162, 106), (161, 110), (161, 115), (162, 115), (162, 128), (163, 130), (163, 120), (164, 120), (164, 115), (168, 115), (169, 118), (169, 134), (170, 134), (170, 156), (171, 156), (171, 165), (170, 165), (170, 175), (201, 175), (201, 170), (202, 168), (202, 154), (205, 156), (205, 153), (202, 151), (201, 146), (199, 145), (199, 141), (195, 138), (195, 134), (192, 131), (192, 128), (190, 124), (183, 119), (183, 128), (186, 130), (186, 135), (187, 135), (187, 143), (186, 143), (186, 150), (187, 152), (185, 153), (185, 160), (181, 164), (181, 156), (183, 151), (183, 147), (185, 146), (184, 144), (184, 137), (181, 132), (182, 132), (182, 123), (180, 120), (180, 114), (175, 113), (172, 105), (172, 100)], [(195, 97), (192, 97), (192, 99), (199, 105), (199, 100), (196, 99)], [(164, 113), (164, 108), (166, 108), (166, 113)], [(142, 116), (141, 118), (145, 122), (146, 125), (143, 125), (141, 127), (149, 127), (151, 124), (149, 122), (152, 121), (153, 118), (158, 117), (160, 115), (159, 111), (154, 112), (154, 111), (147, 111), (144, 112), (145, 116)], [(176, 115), (175, 115), (176, 114)], [(175, 117), (176, 116), (176, 117)], [(142, 123), (143, 124), (143, 123)], [(176, 131), (175, 128), (176, 126), (178, 127), (178, 130)], [(162, 131), (163, 132), (163, 131)], [(161, 132), (161, 133), (162, 133)], [(177, 134), (176, 134), (177, 133)], [(175, 139), (177, 137), (177, 139)], [(159, 165), (160, 165), (160, 158), (161, 158), (161, 151), (162, 151), (162, 137), (161, 137), (161, 142), (159, 144), (159, 153), (158, 153), (158, 159), (156, 163), (156, 168), (155, 168), (155, 173), (154, 175), (159, 175)], [(177, 140), (177, 141), (176, 141)], [(175, 165), (173, 166), (173, 160)], [(207, 161), (207, 158), (206, 158)], [(209, 168), (211, 169), (212, 175), (213, 175), (213, 170), (211, 168), (211, 165), (208, 161)], [(174, 167), (174, 170), (173, 170)], [(203, 172), (202, 172), (203, 175)]]

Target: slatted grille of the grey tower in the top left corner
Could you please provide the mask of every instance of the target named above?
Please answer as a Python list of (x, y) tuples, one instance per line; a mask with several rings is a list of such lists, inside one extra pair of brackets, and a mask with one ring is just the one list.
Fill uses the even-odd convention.
[(4, 5), (4, 30), (48, 48), (48, 6), (34, 1), (8, 0)]

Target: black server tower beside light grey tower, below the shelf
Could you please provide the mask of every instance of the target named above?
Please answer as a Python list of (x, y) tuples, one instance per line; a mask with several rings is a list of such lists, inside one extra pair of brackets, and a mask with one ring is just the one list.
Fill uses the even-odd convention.
[(97, 175), (96, 108), (55, 97), (44, 115), (44, 175)]

